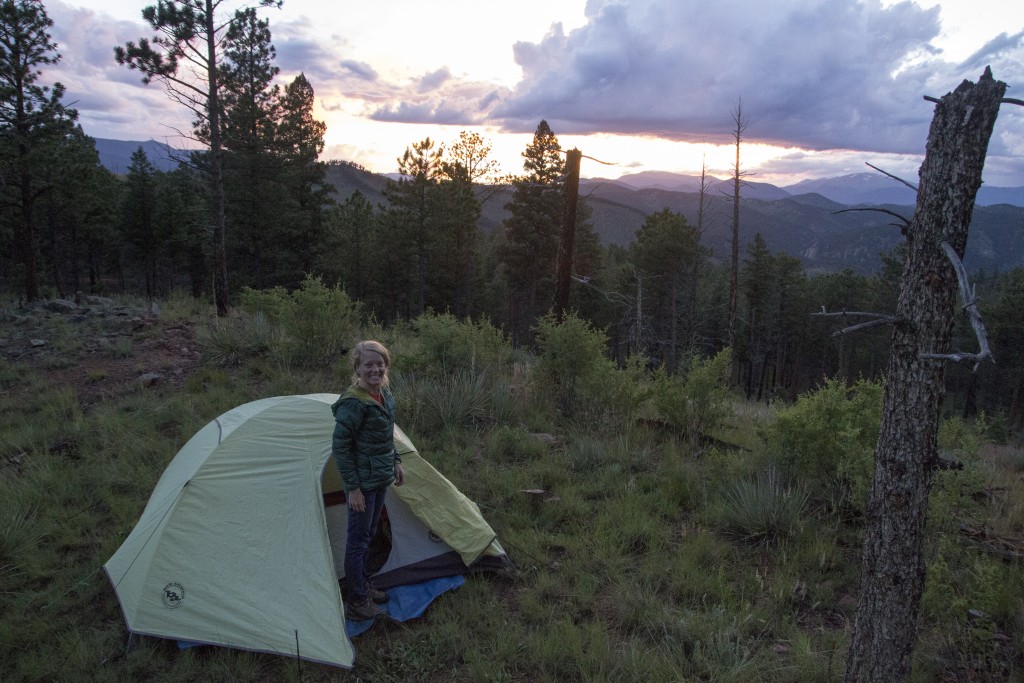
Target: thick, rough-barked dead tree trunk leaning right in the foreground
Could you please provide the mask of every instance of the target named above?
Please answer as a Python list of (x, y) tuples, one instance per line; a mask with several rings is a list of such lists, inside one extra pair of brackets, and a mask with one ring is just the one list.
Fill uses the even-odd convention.
[(928, 134), (918, 206), (906, 230), (848, 682), (889, 683), (910, 674), (925, 583), (925, 513), (944, 392), (944, 361), (921, 356), (944, 353), (950, 345), (957, 283), (940, 245), (949, 243), (963, 258), (1006, 88), (988, 69), (977, 84), (965, 81), (938, 100)]

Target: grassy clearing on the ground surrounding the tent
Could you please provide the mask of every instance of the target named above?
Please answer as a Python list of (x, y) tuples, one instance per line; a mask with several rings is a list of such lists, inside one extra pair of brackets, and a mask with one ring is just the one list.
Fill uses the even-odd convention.
[[(718, 412), (696, 415), (692, 383), (650, 380), (673, 392), (657, 407), (645, 402), (649, 378), (602, 362), (581, 364), (556, 390), (550, 368), (534, 372), (555, 354), (536, 360), (487, 326), (445, 316), (361, 334), (408, 354), (403, 366), (396, 351), (402, 426), (477, 502), (518, 572), (472, 575), (422, 618), (379, 624), (355, 639), (354, 671), (128, 639), (101, 566), (177, 449), (240, 403), (347, 382), (335, 359), (310, 362), (315, 347), (287, 327), (299, 319), (291, 299), (260, 301), (275, 317), (241, 310), (224, 325), (186, 298), (162, 305), (146, 334), (182, 317), (212, 331), (197, 335), (204, 365), (178, 385), (86, 402), (90, 387), (70, 385), (59, 368), (0, 362), (0, 680), (841, 679), (858, 587), (859, 470), (834, 458), (813, 471), (803, 464), (814, 459), (811, 418), (849, 418), (853, 434), (867, 398), (825, 392), (787, 413), (714, 394)], [(560, 343), (592, 334), (557, 332), (548, 330)], [(128, 340), (124, 361), (139, 362), (143, 346)], [(75, 352), (70, 338), (59, 348)], [(712, 395), (710, 384), (697, 388)], [(672, 405), (696, 417), (673, 426), (658, 413)], [(714, 440), (694, 438), (695, 420), (712, 421), (701, 430)], [(989, 443), (983, 427), (950, 424), (942, 435), (965, 469), (942, 473), (932, 496), (918, 681), (1024, 675), (1024, 565), (1013, 556), (1024, 456)]]

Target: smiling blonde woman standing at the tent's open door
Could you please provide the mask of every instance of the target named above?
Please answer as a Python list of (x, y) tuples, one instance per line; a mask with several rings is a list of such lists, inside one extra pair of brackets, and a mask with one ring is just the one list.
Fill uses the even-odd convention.
[(394, 397), (388, 390), (391, 354), (383, 344), (362, 341), (352, 349), (352, 384), (334, 405), (333, 453), (348, 500), (345, 543), (346, 614), (356, 621), (383, 614), (387, 595), (367, 578), (370, 541), (377, 533), (384, 496), (406, 481), (394, 450)]

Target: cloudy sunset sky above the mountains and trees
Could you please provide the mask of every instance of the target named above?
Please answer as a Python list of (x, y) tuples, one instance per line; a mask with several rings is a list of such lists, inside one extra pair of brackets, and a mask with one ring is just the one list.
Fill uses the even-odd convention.
[[(190, 116), (114, 60), (154, 2), (43, 0), (86, 134), (184, 145)], [(225, 6), (233, 8), (241, 3)], [(934, 104), (986, 66), (1024, 99), (1019, 0), (284, 0), (263, 9), (282, 83), (302, 73), (322, 159), (388, 173), (472, 131), (504, 173), (547, 120), (584, 177), (731, 175), (781, 186), (873, 172), (914, 182)], [(599, 163), (600, 162), (600, 163)], [(1024, 185), (1024, 106), (1004, 104), (985, 182)]]

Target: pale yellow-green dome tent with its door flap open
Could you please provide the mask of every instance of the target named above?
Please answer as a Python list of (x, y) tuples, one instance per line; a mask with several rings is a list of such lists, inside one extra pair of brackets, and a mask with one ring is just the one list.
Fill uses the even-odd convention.
[[(337, 398), (246, 403), (181, 447), (103, 565), (129, 631), (352, 665), (338, 583), (346, 520), (331, 457)], [(508, 566), (476, 505), (398, 428), (395, 447), (407, 481), (388, 493), (390, 545), (375, 584)]]

